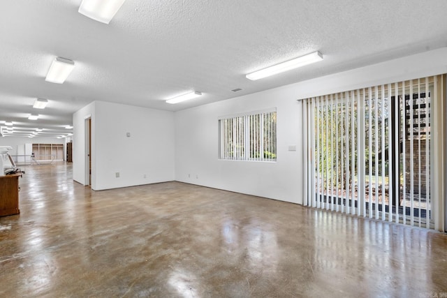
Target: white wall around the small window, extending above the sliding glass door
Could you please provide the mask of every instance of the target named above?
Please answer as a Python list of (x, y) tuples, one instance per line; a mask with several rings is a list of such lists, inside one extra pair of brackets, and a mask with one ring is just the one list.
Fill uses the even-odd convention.
[[(175, 179), (302, 204), (298, 99), (441, 73), (447, 73), (446, 47), (176, 112)], [(277, 163), (219, 161), (218, 117), (269, 107), (277, 107)], [(293, 144), (297, 151), (287, 151)]]

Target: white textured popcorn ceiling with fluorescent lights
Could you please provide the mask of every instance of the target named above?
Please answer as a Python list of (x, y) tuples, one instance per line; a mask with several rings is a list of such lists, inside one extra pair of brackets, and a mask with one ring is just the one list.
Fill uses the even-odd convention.
[[(126, 0), (110, 24), (80, 2), (1, 1), (0, 121), (17, 132), (66, 133), (94, 100), (182, 110), (447, 46), (445, 0)], [(245, 77), (316, 50), (318, 64)], [(55, 57), (75, 61), (64, 84), (45, 82)], [(193, 90), (203, 96), (165, 103)]]

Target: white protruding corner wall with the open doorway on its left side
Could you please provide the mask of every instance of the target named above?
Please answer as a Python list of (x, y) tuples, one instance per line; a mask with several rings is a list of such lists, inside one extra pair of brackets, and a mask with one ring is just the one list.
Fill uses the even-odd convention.
[(73, 153), (78, 151), (73, 156), (75, 181), (85, 184), (85, 117), (89, 114), (92, 189), (174, 179), (173, 112), (95, 101), (73, 115)]

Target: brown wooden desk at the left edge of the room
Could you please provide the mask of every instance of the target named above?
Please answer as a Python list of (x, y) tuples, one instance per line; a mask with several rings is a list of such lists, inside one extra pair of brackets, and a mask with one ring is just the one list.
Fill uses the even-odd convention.
[(19, 177), (21, 173), (0, 176), (0, 216), (20, 214)]

